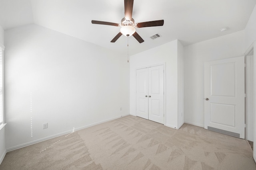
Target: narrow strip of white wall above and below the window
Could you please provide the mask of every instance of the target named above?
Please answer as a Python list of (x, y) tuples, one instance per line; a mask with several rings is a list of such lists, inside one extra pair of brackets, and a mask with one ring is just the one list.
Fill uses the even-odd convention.
[[(4, 46), (4, 29), (2, 29), (0, 25), (0, 47)], [(6, 154), (6, 146), (5, 146), (5, 127), (0, 125), (0, 164), (4, 159)]]

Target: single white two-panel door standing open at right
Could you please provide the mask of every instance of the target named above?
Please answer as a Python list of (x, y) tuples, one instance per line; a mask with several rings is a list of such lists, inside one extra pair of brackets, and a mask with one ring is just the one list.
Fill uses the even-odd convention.
[(204, 64), (204, 128), (244, 139), (244, 56)]

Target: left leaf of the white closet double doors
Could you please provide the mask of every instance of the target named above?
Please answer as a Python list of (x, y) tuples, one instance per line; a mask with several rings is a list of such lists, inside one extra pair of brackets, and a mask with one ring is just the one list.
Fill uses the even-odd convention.
[(136, 114), (148, 119), (148, 68), (136, 71)]

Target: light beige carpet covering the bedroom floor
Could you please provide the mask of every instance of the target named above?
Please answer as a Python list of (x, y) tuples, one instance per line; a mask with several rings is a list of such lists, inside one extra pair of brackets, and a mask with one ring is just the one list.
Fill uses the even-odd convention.
[(256, 170), (246, 140), (128, 115), (8, 152), (1, 170)]

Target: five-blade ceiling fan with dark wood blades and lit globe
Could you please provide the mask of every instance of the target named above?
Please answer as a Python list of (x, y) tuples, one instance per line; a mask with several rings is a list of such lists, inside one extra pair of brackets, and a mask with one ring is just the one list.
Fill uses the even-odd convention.
[(120, 24), (119, 23), (106, 22), (106, 21), (92, 20), (92, 23), (94, 23), (94, 24), (112, 25), (112, 26), (116, 26), (116, 27), (121, 27), (120, 32), (110, 41), (111, 43), (116, 42), (116, 40), (121, 35), (124, 35), (126, 37), (130, 37), (132, 35), (132, 36), (134, 36), (134, 38), (139, 43), (143, 43), (144, 40), (136, 32), (136, 28), (155, 27), (155, 26), (164, 25), (164, 20), (134, 23), (134, 19), (132, 18), (133, 1), (134, 0), (124, 0), (124, 18), (121, 20)]

